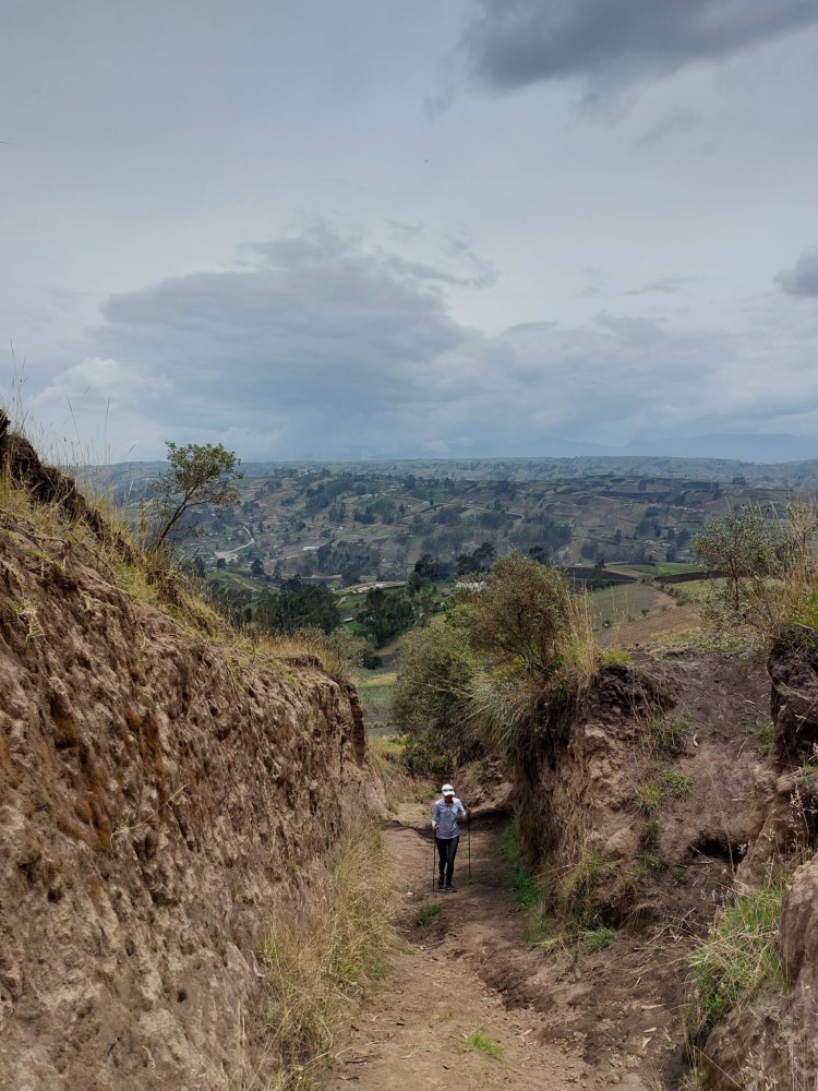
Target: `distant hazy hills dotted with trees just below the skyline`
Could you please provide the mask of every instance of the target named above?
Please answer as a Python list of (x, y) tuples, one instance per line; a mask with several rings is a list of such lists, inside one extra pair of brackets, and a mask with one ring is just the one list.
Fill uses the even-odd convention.
[[(107, 481), (135, 521), (160, 469), (97, 470), (97, 487)], [(818, 463), (637, 456), (243, 469), (238, 504), (191, 513), (181, 544), (208, 579), (253, 596), (294, 575), (335, 586), (405, 580), (426, 555), (434, 578), (446, 582), (480, 549), (517, 549), (563, 564), (690, 562), (693, 539), (711, 517), (746, 504), (774, 517), (818, 482)]]

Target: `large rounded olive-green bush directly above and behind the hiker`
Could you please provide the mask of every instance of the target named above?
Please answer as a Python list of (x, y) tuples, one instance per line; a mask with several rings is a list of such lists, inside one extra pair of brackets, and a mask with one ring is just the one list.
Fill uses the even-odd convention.
[(394, 719), (416, 772), (449, 776), (485, 752), (525, 760), (598, 666), (586, 600), (566, 577), (509, 553), (445, 625), (411, 633)]

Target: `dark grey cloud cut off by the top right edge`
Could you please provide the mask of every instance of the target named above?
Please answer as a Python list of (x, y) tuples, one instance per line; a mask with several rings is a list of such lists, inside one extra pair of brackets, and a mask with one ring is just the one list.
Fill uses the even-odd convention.
[(729, 57), (818, 22), (815, 0), (474, 0), (471, 72), (500, 88), (629, 83)]

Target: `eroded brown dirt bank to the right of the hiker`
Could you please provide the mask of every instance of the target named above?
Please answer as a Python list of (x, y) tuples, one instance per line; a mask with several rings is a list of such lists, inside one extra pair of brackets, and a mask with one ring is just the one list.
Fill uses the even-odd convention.
[[(759, 734), (768, 709), (759, 657), (642, 656), (604, 668), (556, 741), (543, 732), (539, 752), (517, 770), (528, 860), (568, 867), (584, 853), (601, 854), (614, 918), (634, 910), (634, 884), (623, 879), (647, 851), (646, 832), (649, 854), (667, 870), (710, 859), (737, 864), (769, 805)], [(662, 734), (675, 744), (663, 746)], [(663, 787), (667, 772), (684, 778), (684, 795)], [(639, 800), (650, 782), (659, 795), (648, 813)]]

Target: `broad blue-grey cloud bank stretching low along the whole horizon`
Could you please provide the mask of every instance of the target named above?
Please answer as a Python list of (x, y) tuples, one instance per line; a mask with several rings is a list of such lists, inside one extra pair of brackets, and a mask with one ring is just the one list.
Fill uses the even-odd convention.
[(85, 392), (81, 410), (109, 413), (134, 458), (193, 440), (244, 459), (536, 455), (560, 436), (798, 432), (818, 412), (818, 319), (786, 323), (783, 303), (742, 334), (602, 312), (488, 335), (450, 313), (455, 265), (324, 225), (245, 254), (249, 266), (111, 297), (87, 358), (40, 405), (56, 418)]

